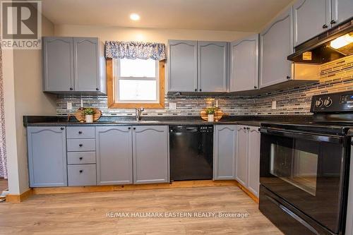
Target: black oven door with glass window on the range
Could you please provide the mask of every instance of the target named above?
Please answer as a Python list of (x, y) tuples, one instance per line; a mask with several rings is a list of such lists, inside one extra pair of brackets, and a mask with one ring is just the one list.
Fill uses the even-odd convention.
[(261, 185), (338, 233), (345, 141), (337, 135), (261, 128)]

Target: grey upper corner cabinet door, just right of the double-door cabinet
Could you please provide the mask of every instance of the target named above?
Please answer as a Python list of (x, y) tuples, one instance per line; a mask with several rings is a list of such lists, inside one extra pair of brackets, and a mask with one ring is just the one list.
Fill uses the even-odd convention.
[(230, 92), (258, 88), (258, 35), (232, 42)]

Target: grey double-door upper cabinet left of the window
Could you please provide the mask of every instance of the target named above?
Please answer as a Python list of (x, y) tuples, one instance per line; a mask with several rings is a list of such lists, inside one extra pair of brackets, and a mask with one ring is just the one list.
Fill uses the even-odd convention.
[(105, 94), (102, 42), (97, 37), (43, 37), (44, 92)]

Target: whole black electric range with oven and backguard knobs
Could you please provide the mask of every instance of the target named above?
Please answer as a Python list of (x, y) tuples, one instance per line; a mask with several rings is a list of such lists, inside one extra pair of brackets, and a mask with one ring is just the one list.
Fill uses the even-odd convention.
[(259, 208), (285, 234), (344, 234), (353, 91), (315, 95), (311, 112), (262, 123)]

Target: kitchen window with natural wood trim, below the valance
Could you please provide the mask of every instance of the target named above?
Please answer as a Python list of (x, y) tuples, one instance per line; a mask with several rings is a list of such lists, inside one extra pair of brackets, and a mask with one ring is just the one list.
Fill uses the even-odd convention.
[(164, 108), (164, 61), (107, 59), (109, 108)]

